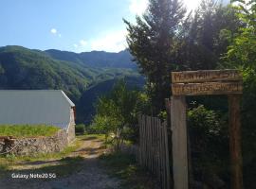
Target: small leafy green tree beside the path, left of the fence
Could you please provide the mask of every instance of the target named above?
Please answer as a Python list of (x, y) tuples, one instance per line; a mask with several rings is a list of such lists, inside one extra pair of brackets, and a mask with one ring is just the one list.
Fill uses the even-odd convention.
[(93, 119), (92, 128), (101, 131), (106, 136), (114, 134), (113, 144), (119, 148), (121, 140), (137, 139), (137, 113), (139, 97), (136, 90), (129, 90), (126, 83), (120, 80), (110, 92), (98, 100), (97, 114)]

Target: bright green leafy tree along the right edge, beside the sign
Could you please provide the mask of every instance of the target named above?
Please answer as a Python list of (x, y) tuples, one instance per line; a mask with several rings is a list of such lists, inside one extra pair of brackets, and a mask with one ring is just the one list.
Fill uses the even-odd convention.
[(225, 67), (243, 72), (242, 132), (245, 187), (256, 188), (256, 2), (233, 1), (237, 17), (244, 24), (229, 35), (231, 44), (225, 57)]

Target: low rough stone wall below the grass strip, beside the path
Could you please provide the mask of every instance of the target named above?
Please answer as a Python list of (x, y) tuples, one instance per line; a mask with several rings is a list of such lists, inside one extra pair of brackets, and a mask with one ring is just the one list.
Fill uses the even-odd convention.
[(68, 145), (65, 129), (49, 137), (37, 138), (0, 138), (0, 153), (31, 155), (35, 153), (60, 152)]

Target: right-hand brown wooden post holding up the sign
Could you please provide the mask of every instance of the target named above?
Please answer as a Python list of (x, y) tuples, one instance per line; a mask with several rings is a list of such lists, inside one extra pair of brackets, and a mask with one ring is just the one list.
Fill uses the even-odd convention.
[(231, 161), (231, 189), (243, 189), (240, 98), (241, 95), (229, 95), (229, 147)]

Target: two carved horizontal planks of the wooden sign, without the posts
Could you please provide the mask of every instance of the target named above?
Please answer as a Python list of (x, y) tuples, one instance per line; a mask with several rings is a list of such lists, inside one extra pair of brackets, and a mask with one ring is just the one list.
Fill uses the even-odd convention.
[(238, 70), (201, 70), (172, 73), (174, 95), (243, 94)]

